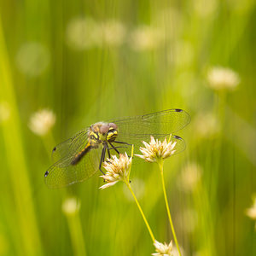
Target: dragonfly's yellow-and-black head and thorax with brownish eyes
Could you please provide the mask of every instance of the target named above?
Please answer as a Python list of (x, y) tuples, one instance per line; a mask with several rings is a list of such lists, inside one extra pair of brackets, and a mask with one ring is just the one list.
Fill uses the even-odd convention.
[(113, 143), (118, 136), (118, 127), (113, 123), (96, 123), (90, 126), (89, 140), (91, 144), (102, 142)]

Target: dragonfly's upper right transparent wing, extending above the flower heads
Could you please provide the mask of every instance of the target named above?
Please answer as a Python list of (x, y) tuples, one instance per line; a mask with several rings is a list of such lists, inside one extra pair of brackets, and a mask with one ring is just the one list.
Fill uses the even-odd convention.
[(119, 127), (119, 137), (131, 134), (134, 137), (146, 134), (170, 135), (181, 130), (189, 122), (189, 113), (176, 108), (113, 121)]

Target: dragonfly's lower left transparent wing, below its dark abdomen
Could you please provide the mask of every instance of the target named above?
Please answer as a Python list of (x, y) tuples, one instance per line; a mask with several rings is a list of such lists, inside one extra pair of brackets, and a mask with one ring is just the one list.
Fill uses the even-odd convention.
[(100, 165), (102, 145), (92, 148), (76, 164), (72, 165), (73, 156), (64, 157), (50, 166), (45, 172), (44, 181), (49, 189), (59, 189), (73, 183), (83, 182), (94, 175)]

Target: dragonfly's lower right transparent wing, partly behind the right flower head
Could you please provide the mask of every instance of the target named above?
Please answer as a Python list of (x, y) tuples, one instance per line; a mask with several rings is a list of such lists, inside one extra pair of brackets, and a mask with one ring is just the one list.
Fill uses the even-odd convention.
[[(169, 137), (170, 135), (167, 135), (167, 136), (154, 135), (154, 139), (159, 139), (161, 142), (163, 142), (165, 138), (168, 142)], [(143, 141), (146, 143), (149, 143), (150, 135), (137, 135), (137, 136), (123, 135), (121, 137), (117, 137), (117, 141), (133, 144), (134, 154), (142, 154), (139, 149), (140, 147), (144, 147)], [(186, 143), (184, 142), (182, 137), (179, 137), (177, 135), (172, 135), (171, 141), (176, 143), (174, 148), (176, 151), (174, 154), (181, 153), (186, 148)], [(113, 145), (117, 147), (121, 147), (121, 148), (117, 148), (120, 153), (126, 152), (128, 155), (131, 155), (131, 145), (125, 145), (125, 144), (120, 144), (116, 142), (113, 142)], [(115, 154), (113, 149), (111, 149), (111, 154)]]

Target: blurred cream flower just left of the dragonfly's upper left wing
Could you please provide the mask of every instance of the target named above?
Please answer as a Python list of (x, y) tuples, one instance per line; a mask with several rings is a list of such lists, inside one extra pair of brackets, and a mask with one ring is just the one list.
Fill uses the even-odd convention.
[(50, 110), (43, 109), (32, 114), (28, 126), (35, 134), (44, 136), (49, 132), (53, 125), (55, 125), (55, 113)]

